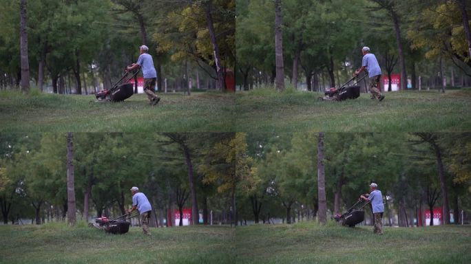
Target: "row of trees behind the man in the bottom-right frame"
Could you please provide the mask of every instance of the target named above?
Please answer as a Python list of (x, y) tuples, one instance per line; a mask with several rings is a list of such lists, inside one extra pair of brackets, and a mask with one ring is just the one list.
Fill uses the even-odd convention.
[(471, 206), (470, 140), (469, 133), (249, 134), (258, 180), (239, 193), (239, 219), (325, 221), (375, 181), (390, 225), (413, 225), (418, 211), (436, 206), (451, 208), (458, 223)]

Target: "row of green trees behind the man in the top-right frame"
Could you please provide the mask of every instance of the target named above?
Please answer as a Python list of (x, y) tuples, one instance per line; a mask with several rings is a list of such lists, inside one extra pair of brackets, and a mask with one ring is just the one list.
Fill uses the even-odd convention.
[(239, 0), (237, 10), (236, 80), (244, 89), (286, 76), (297, 87), (300, 72), (309, 91), (335, 87), (361, 66), (365, 45), (389, 80), (400, 72), (400, 89), (408, 78), (415, 89), (471, 85), (465, 0)]

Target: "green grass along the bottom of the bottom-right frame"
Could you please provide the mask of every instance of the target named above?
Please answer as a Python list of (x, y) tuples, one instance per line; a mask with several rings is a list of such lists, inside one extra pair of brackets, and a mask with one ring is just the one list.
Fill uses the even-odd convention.
[(470, 263), (471, 227), (252, 225), (235, 232), (236, 263)]

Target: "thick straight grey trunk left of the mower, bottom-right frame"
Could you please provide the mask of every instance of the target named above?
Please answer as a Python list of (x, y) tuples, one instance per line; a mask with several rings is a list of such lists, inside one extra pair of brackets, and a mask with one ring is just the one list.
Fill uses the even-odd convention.
[(324, 175), (324, 132), (319, 133), (317, 144), (317, 193), (319, 194), (319, 222), (327, 221), (326, 186)]

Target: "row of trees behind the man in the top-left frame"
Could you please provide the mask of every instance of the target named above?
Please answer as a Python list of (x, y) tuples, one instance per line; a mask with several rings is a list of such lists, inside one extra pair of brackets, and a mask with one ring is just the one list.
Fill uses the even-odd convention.
[(235, 0), (24, 0), (21, 5), (2, 0), (0, 5), (3, 89), (17, 87), (23, 76), (24, 91), (30, 80), (41, 91), (52, 84), (54, 93), (70, 92), (67, 86), (76, 94), (96, 91), (100, 83), (107, 88), (137, 60), (140, 45), (149, 46), (154, 57), (160, 91), (167, 83), (183, 90), (191, 83), (198, 88), (216, 83), (213, 88), (224, 90), (224, 74), (234, 67)]

